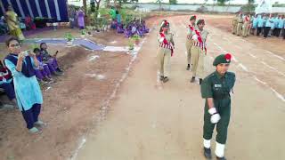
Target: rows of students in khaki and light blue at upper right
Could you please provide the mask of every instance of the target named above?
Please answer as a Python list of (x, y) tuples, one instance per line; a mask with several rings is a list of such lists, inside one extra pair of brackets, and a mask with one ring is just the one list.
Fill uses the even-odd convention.
[(285, 39), (285, 18), (278, 14), (246, 15), (241, 12), (232, 20), (232, 34), (237, 36), (282, 36)]

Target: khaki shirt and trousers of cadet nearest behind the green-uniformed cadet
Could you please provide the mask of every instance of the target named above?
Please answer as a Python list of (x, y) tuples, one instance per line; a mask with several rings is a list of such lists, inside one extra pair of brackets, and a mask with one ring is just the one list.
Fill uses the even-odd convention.
[(203, 78), (205, 76), (204, 69), (204, 59), (206, 56), (206, 39), (208, 36), (208, 31), (203, 30), (200, 32), (202, 36), (203, 44), (197, 45), (197, 35), (192, 36), (193, 45), (191, 47), (191, 71), (193, 73), (193, 77), (198, 76), (199, 78)]

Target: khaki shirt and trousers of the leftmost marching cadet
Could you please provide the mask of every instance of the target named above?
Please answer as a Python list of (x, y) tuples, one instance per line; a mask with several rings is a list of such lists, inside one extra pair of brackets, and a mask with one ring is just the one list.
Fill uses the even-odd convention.
[[(168, 43), (174, 44), (172, 33), (167, 33), (165, 36)], [(159, 36), (159, 38), (161, 38), (161, 36)], [(159, 44), (161, 44), (161, 42), (159, 42)], [(171, 50), (159, 46), (157, 58), (159, 64), (159, 76), (169, 76)]]

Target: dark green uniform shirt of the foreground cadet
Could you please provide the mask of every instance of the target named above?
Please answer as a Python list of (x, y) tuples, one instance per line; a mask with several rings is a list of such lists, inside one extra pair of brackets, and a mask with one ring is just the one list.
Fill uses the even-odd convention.
[(221, 76), (217, 71), (207, 76), (201, 84), (201, 96), (203, 99), (213, 98), (222, 100), (230, 98), (230, 92), (235, 83), (235, 74), (226, 72)]

